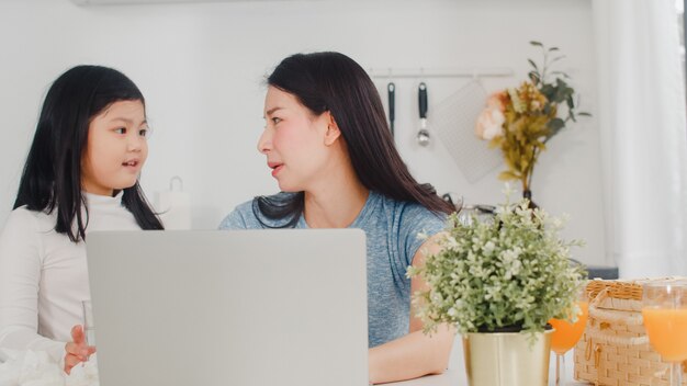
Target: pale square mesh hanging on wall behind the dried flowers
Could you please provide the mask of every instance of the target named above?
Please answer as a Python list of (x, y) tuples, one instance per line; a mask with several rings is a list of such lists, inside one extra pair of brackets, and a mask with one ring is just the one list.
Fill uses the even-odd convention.
[(474, 79), (432, 106), (432, 129), (471, 183), (503, 164), (500, 151), (474, 134), (486, 96), (482, 83)]

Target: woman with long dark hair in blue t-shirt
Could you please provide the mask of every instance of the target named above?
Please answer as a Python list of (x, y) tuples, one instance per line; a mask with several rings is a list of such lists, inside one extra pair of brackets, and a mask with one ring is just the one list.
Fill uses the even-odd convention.
[[(431, 337), (410, 310), (423, 264), (452, 207), (420, 185), (394, 147), (374, 84), (338, 53), (293, 55), (268, 78), (258, 150), (282, 193), (238, 206), (221, 228), (361, 228), (368, 239), (370, 382), (446, 370), (453, 331)], [(333, 331), (336, 333), (336, 331)]]

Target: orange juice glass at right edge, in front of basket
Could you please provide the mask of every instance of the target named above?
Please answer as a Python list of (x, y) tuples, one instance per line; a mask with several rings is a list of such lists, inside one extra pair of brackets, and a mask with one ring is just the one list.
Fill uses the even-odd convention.
[(680, 386), (682, 362), (687, 360), (687, 282), (644, 284), (642, 318), (651, 347), (671, 362), (671, 385)]

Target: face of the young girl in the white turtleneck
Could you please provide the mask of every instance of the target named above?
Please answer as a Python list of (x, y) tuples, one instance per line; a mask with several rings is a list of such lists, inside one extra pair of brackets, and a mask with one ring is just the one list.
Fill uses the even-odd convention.
[(112, 103), (91, 120), (81, 156), (81, 186), (112, 196), (136, 183), (148, 157), (145, 107), (140, 101)]

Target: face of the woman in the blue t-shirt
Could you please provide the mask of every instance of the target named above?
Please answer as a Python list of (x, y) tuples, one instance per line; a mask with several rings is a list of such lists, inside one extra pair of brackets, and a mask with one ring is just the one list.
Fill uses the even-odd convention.
[(270, 86), (264, 99), (264, 120), (258, 151), (267, 156), (280, 190), (308, 191), (314, 183), (323, 181), (333, 162), (330, 114), (315, 116), (296, 96)]

